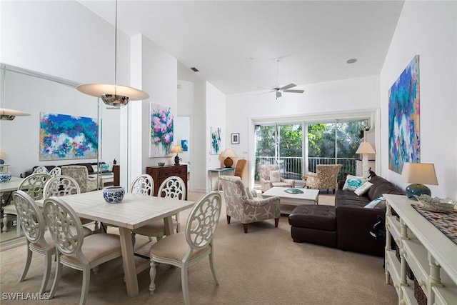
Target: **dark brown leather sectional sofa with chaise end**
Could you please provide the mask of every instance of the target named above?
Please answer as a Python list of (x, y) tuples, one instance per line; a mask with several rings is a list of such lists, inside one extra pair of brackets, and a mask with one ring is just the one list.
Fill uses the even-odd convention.
[(378, 222), (378, 215), (384, 218), (386, 208), (368, 209), (364, 206), (383, 194), (403, 195), (404, 191), (371, 173), (370, 182), (373, 186), (365, 195), (357, 196), (353, 191), (343, 191), (344, 181), (340, 181), (335, 194), (335, 206), (297, 206), (288, 216), (293, 241), (383, 256), (384, 246), (371, 236), (370, 230)]

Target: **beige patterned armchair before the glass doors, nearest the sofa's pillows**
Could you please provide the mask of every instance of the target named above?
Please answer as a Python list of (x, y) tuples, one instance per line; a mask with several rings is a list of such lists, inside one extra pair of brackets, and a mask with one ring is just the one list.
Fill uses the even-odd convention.
[(306, 187), (308, 189), (333, 189), (335, 194), (336, 179), (341, 169), (341, 164), (318, 164), (316, 173), (308, 171)]

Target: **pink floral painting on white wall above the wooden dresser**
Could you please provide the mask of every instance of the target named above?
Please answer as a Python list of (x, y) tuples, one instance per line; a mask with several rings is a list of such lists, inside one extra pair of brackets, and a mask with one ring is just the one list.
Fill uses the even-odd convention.
[(168, 156), (174, 139), (174, 116), (171, 107), (149, 104), (151, 139), (149, 156)]

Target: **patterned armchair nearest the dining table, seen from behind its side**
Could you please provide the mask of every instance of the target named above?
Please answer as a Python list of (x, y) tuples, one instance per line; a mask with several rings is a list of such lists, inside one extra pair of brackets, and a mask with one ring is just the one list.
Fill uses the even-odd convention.
[(244, 233), (248, 233), (248, 224), (266, 219), (274, 219), (274, 226), (278, 227), (279, 197), (268, 199), (257, 198), (243, 184), (238, 176), (221, 176), (222, 189), (226, 202), (227, 224), (231, 217), (243, 224)]

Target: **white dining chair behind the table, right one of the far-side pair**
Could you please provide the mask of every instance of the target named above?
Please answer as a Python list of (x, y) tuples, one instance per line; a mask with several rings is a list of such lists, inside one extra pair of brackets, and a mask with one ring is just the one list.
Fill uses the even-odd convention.
[[(159, 187), (159, 191), (157, 192), (157, 196), (169, 199), (184, 200), (186, 198), (186, 185), (184, 184), (183, 179), (181, 179), (179, 176), (169, 176), (164, 180), (164, 182), (162, 182), (161, 186)], [(181, 231), (179, 213), (174, 215), (172, 221), (173, 229), (176, 230), (176, 232)], [(157, 240), (159, 240), (165, 236), (164, 220), (156, 220), (141, 226), (138, 229), (134, 229), (132, 231), (133, 237), (135, 237), (135, 234), (149, 236), (149, 240), (151, 240), (151, 236), (154, 236)]]

